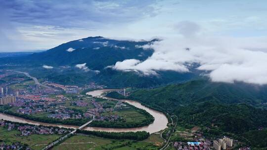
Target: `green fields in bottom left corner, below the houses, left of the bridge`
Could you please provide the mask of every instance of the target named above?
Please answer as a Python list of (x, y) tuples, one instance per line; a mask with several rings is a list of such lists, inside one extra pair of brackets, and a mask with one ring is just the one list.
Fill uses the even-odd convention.
[(56, 140), (60, 135), (30, 135), (19, 136), (20, 132), (16, 130), (7, 131), (6, 128), (0, 127), (0, 140), (12, 144), (14, 142), (20, 142), (22, 144), (29, 145), (33, 150), (42, 150), (48, 143)]

